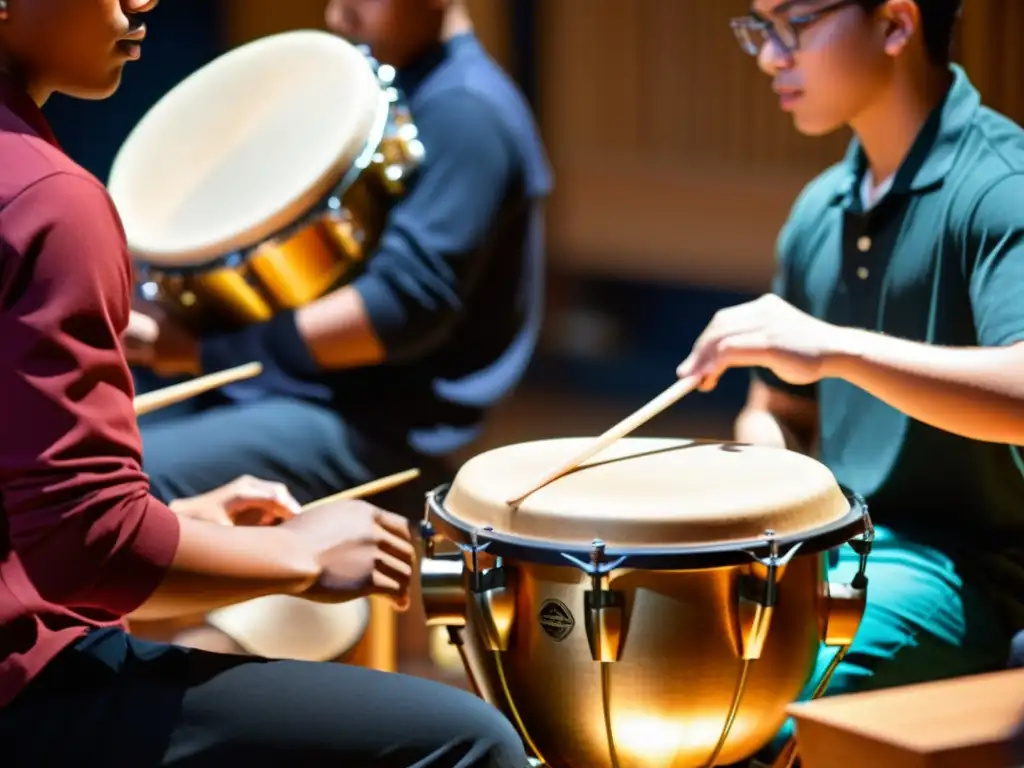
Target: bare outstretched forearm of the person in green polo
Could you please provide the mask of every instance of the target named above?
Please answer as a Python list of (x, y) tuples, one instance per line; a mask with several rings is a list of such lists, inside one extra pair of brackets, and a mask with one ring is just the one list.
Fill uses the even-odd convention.
[(910, 418), (975, 440), (1024, 444), (1024, 345), (938, 347), (850, 330), (825, 366)]

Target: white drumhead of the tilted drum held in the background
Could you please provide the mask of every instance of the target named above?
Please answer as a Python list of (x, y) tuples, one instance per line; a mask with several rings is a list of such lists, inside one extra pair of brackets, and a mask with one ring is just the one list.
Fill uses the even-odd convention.
[(327, 32), (218, 57), (167, 93), (115, 159), (109, 186), (129, 248), (189, 266), (265, 240), (338, 183), (382, 99), (362, 53)]

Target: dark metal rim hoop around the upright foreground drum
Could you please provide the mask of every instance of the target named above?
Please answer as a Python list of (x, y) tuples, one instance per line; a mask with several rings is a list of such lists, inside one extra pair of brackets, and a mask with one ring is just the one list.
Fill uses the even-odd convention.
[[(593, 545), (544, 542), (499, 532), (485, 527), (470, 528), (465, 523), (456, 520), (444, 509), (444, 498), (451, 486), (450, 482), (442, 483), (427, 494), (426, 514), (421, 530), (424, 538), (430, 538), (434, 535), (431, 520), (436, 519), (441, 523), (439, 527), (442, 529), (442, 534), (457, 545), (465, 546), (470, 551), (473, 546), (471, 544), (472, 537), (475, 532), (478, 551), (486, 551), (489, 555), (550, 565), (566, 565), (590, 560), (594, 551)], [(622, 559), (618, 567), (623, 568), (691, 570), (701, 567), (749, 564), (752, 558), (760, 559), (770, 556), (773, 543), (777, 545), (777, 551), (783, 558), (794, 549), (799, 549), (797, 554), (819, 554), (847, 544), (858, 535), (866, 535), (872, 529), (864, 498), (843, 484), (840, 484), (839, 488), (849, 502), (850, 510), (837, 520), (801, 534), (791, 534), (774, 539), (763, 537), (698, 545), (607, 547), (603, 551), (603, 557), (605, 560)]]

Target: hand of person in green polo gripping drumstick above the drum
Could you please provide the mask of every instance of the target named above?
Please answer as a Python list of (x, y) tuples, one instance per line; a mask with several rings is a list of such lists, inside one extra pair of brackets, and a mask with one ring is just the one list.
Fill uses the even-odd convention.
[(698, 377), (705, 392), (730, 368), (767, 368), (791, 384), (813, 384), (851, 347), (848, 329), (769, 294), (717, 312), (676, 374)]

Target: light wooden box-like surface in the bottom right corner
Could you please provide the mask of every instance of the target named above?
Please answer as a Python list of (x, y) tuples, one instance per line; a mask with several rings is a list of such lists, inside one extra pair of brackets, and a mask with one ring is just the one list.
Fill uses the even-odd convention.
[(1024, 670), (793, 705), (802, 768), (1009, 768)]

